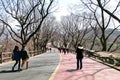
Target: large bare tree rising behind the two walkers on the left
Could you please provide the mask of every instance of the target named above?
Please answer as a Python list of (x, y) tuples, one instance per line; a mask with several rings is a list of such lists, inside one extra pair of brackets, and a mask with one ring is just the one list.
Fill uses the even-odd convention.
[[(2, 11), (9, 17), (1, 15), (0, 21), (7, 25), (11, 37), (20, 45), (26, 45), (41, 28), (44, 19), (51, 12), (54, 0), (1, 0)], [(36, 15), (36, 19), (35, 16)], [(10, 22), (16, 22), (12, 26)], [(33, 26), (33, 24), (37, 24)], [(34, 28), (35, 27), (35, 28)], [(17, 28), (17, 30), (15, 29)], [(33, 29), (31, 31), (31, 29)]]

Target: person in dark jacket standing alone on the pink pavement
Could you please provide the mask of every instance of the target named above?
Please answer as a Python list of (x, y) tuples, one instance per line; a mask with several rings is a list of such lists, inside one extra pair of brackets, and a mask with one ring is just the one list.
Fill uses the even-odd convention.
[(76, 49), (77, 70), (82, 69), (83, 51), (83, 47), (77, 47)]

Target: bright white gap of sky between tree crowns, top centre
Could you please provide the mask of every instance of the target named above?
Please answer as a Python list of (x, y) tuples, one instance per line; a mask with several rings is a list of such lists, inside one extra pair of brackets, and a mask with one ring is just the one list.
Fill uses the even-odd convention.
[(60, 20), (61, 16), (69, 15), (69, 7), (72, 7), (79, 2), (80, 0), (58, 0), (58, 9), (54, 13), (54, 16), (56, 16), (57, 20)]

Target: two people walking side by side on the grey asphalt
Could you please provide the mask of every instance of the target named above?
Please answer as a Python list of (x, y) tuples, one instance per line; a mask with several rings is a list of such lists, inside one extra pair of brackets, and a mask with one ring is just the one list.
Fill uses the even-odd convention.
[[(19, 71), (22, 70), (25, 63), (26, 63), (26, 69), (28, 69), (29, 55), (25, 50), (25, 46), (23, 46), (21, 50), (19, 50), (18, 46), (15, 46), (12, 54), (12, 59), (15, 61), (15, 64), (12, 66), (12, 71), (14, 71), (14, 68), (17, 64)], [(22, 59), (22, 64), (21, 64), (21, 59)]]

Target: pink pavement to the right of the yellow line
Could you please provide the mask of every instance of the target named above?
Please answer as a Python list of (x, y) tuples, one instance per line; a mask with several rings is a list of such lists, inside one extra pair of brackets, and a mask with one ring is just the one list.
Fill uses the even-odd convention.
[(60, 66), (53, 80), (120, 80), (120, 71), (84, 57), (83, 68), (76, 70), (75, 54), (60, 54)]

